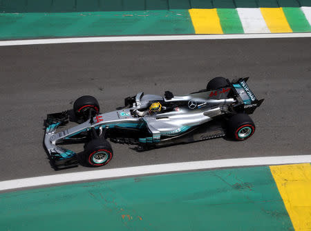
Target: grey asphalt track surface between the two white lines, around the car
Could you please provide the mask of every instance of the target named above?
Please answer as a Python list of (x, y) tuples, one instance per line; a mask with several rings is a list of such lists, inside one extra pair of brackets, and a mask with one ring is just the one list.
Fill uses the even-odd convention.
[[(46, 114), (72, 108), (91, 94), (101, 111), (124, 97), (187, 94), (213, 77), (250, 77), (265, 98), (252, 115), (256, 132), (243, 142), (223, 138), (147, 152), (112, 143), (105, 167), (243, 157), (310, 154), (311, 39), (236, 39), (70, 43), (0, 48), (0, 181), (95, 170), (79, 166), (55, 172), (44, 151)], [(82, 150), (82, 145), (72, 145)]]

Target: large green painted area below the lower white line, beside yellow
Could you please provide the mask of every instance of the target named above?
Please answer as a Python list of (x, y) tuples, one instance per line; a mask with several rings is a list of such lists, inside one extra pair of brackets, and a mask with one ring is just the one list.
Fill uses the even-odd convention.
[(0, 194), (1, 230), (294, 230), (268, 167)]

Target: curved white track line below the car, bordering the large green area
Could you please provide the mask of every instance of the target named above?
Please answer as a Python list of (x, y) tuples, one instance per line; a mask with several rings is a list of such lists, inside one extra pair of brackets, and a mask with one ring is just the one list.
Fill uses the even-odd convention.
[(219, 159), (214, 161), (194, 161), (182, 163), (165, 163), (158, 165), (145, 165), (129, 168), (113, 168), (107, 170), (93, 170), (88, 172), (74, 172), (56, 174), (44, 177), (32, 177), (0, 182), (1, 190), (12, 190), (39, 185), (88, 181), (94, 179), (109, 179), (112, 177), (129, 177), (142, 174), (157, 174), (163, 172), (180, 172), (189, 170), (203, 170), (212, 168), (229, 168), (254, 165), (279, 165), (290, 163), (310, 163), (311, 155), (284, 156), (284, 157), (252, 157), (241, 159)]

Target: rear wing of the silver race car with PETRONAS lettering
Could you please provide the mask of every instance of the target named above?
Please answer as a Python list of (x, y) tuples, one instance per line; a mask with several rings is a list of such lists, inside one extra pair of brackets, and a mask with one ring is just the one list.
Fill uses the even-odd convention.
[(243, 107), (245, 113), (252, 114), (256, 108), (261, 106), (264, 99), (258, 100), (252, 90), (250, 90), (249, 86), (247, 85), (246, 81), (249, 78), (240, 78), (238, 80), (233, 80), (230, 82), (228, 79), (227, 81), (230, 83), (232, 90), (238, 100), (238, 104), (236, 107)]

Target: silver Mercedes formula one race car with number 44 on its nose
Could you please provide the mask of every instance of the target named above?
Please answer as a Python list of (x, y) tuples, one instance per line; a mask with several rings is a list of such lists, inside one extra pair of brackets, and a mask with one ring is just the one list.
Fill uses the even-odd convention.
[[(223, 136), (243, 141), (255, 131), (248, 114), (263, 102), (249, 89), (247, 79), (230, 82), (216, 77), (206, 89), (178, 97), (169, 91), (164, 97), (140, 92), (124, 99), (120, 110), (103, 114), (94, 97), (79, 97), (73, 110), (48, 114), (44, 121), (46, 151), (59, 169), (79, 162), (75, 152), (60, 144), (85, 143), (79, 159), (90, 166), (102, 166), (113, 157), (107, 139), (137, 145), (138, 150)], [(68, 121), (78, 125), (56, 132)]]

